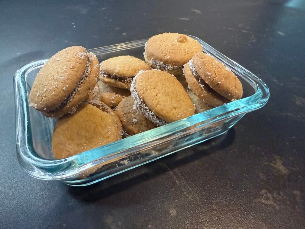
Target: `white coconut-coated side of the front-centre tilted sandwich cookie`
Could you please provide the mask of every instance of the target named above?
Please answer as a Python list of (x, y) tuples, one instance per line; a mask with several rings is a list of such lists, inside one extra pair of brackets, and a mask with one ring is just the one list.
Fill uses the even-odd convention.
[(140, 75), (143, 72), (145, 72), (145, 71), (143, 71), (143, 70), (139, 71), (138, 74), (135, 75), (135, 77), (133, 78), (133, 81), (131, 83), (131, 87), (130, 87), (131, 97), (135, 100), (135, 104), (133, 105), (133, 109), (141, 111), (147, 119), (149, 119), (150, 121), (155, 123), (157, 126), (165, 125), (165, 124), (167, 124), (167, 122), (158, 118), (155, 115), (155, 113), (153, 113), (153, 111), (151, 111), (149, 109), (149, 107), (147, 107), (144, 104), (143, 100), (139, 98), (139, 94), (135, 89), (135, 81), (136, 81), (138, 75)]

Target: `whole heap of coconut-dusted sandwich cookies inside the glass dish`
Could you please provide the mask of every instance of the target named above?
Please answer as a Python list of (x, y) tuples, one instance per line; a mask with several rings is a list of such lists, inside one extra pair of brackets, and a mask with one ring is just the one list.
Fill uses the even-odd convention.
[(233, 72), (186, 35), (151, 37), (144, 60), (116, 56), (99, 64), (81, 46), (63, 49), (48, 60), (34, 81), (29, 105), (57, 118), (52, 136), (55, 158), (242, 97), (242, 85)]

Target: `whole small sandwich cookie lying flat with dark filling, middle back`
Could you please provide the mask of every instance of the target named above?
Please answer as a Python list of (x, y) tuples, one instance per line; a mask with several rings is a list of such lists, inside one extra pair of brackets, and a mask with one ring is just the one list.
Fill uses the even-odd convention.
[(100, 64), (100, 80), (110, 86), (130, 89), (132, 78), (140, 70), (150, 67), (143, 60), (133, 56), (116, 56)]

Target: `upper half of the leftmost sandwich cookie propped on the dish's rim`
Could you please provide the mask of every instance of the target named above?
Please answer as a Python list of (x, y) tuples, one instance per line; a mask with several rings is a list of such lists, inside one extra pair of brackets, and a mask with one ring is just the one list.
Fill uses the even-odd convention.
[(61, 104), (75, 89), (85, 71), (87, 51), (81, 46), (63, 49), (52, 56), (34, 80), (30, 103), (39, 111), (49, 111)]

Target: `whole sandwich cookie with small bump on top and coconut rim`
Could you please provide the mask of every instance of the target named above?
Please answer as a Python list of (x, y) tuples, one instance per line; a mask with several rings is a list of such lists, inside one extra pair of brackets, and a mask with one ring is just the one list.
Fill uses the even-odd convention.
[(144, 58), (151, 68), (181, 76), (183, 65), (198, 52), (202, 52), (202, 47), (193, 38), (178, 33), (163, 33), (149, 38)]

